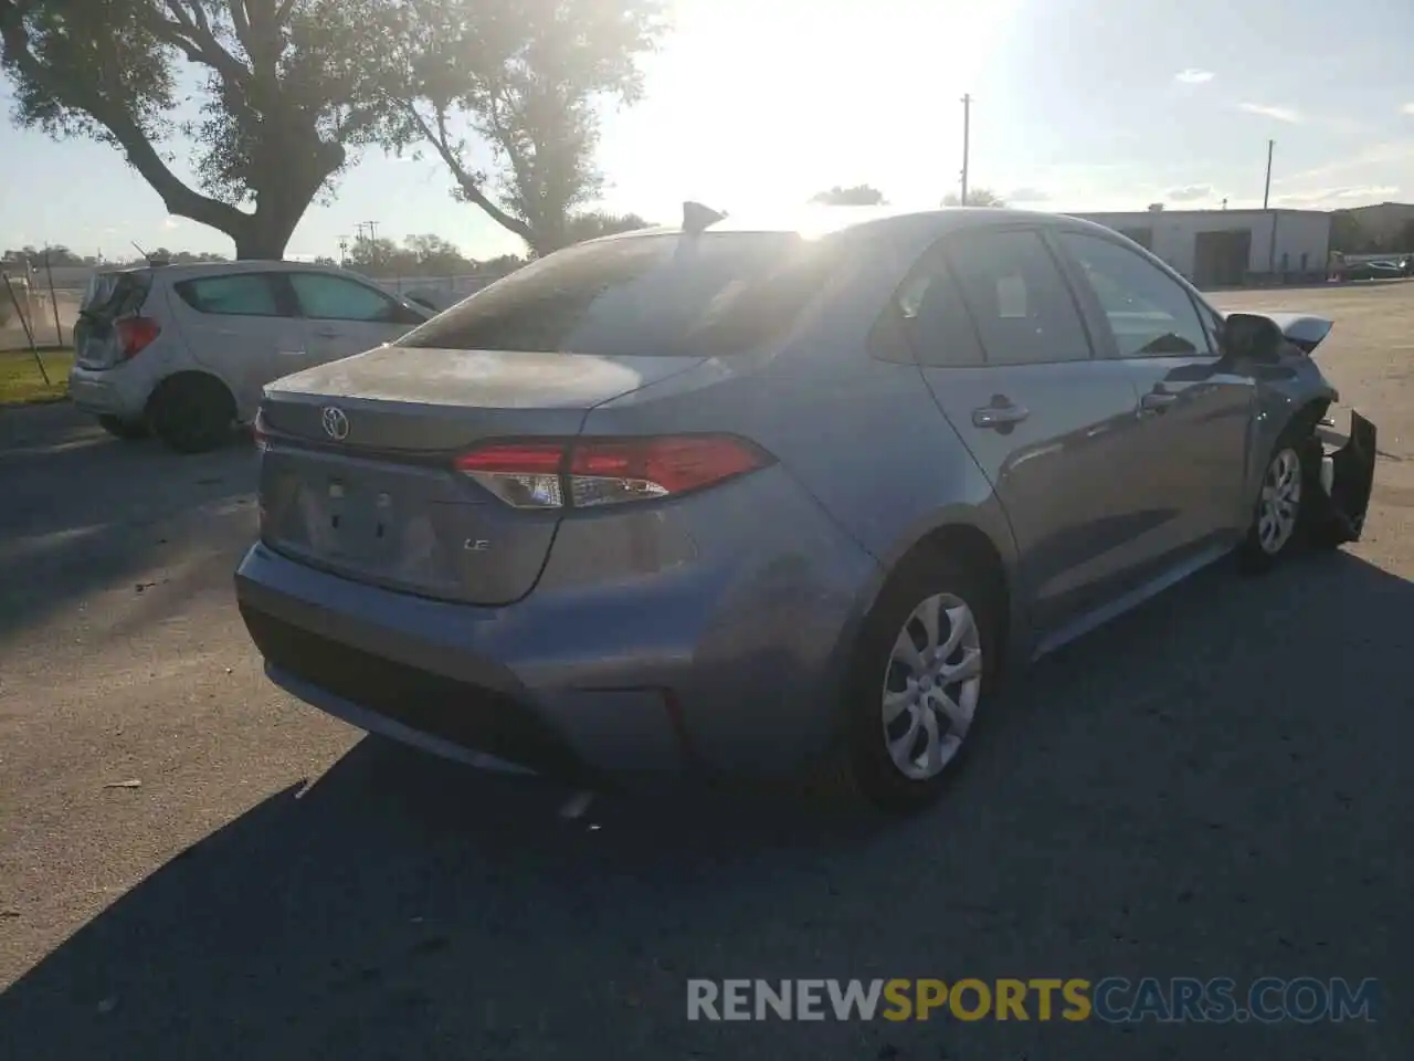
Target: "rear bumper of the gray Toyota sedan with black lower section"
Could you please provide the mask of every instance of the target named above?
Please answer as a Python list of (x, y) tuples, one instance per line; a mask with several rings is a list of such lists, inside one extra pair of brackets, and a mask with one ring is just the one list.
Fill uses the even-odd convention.
[(547, 576), (492, 608), (356, 583), (257, 543), (235, 580), (269, 676), (301, 700), (477, 765), (588, 777), (783, 772), (817, 754), (837, 723), (839, 642), (871, 574), (841, 540), (814, 563), (755, 556), (560, 589)]

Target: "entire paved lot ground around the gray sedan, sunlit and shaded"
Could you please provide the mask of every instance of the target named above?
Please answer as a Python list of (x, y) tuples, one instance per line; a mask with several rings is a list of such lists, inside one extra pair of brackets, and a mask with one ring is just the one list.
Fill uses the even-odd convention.
[[(253, 456), (0, 413), (0, 1057), (1414, 1055), (1414, 283), (1338, 320), (1366, 539), (1215, 567), (1045, 661), (950, 798), (602, 798), (277, 693), (232, 604)], [(1379, 978), (1379, 1023), (689, 1023), (687, 978)]]

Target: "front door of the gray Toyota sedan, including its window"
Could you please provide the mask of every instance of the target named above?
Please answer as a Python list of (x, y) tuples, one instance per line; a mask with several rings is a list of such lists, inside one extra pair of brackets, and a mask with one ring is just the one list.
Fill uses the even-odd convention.
[(1216, 547), (1250, 512), (1243, 498), (1256, 381), (1225, 361), (1212, 320), (1188, 287), (1123, 243), (1056, 232), (1097, 321), (1104, 356), (1140, 395), (1138, 451), (1147, 474), (1135, 502), (1162, 522), (1151, 529), (1161, 563)]

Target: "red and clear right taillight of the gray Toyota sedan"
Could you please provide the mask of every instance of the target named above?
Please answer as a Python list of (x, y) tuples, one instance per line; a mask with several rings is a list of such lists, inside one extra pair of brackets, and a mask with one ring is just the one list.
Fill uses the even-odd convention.
[(515, 508), (592, 508), (677, 497), (768, 463), (741, 439), (684, 434), (493, 443), (458, 457), (457, 470)]

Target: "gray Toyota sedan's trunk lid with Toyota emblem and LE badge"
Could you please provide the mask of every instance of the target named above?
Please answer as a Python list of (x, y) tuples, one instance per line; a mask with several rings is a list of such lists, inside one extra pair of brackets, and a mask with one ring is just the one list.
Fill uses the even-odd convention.
[(455, 457), (573, 437), (594, 406), (700, 361), (383, 347), (287, 376), (260, 409), (262, 538), (359, 581), (509, 604), (534, 587), (563, 509), (512, 508)]

